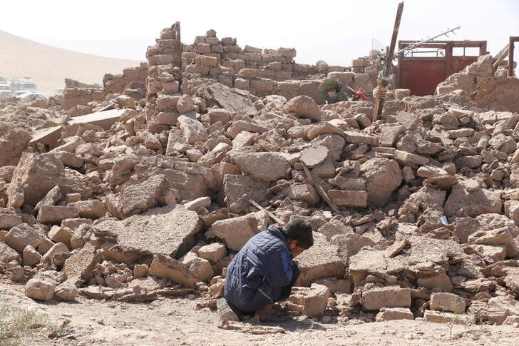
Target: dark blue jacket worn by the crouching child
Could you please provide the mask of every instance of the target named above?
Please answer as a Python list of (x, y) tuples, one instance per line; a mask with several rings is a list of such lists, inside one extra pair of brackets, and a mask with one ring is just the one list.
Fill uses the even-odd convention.
[(269, 226), (250, 238), (227, 266), (225, 299), (252, 313), (286, 299), (298, 275), (287, 241)]

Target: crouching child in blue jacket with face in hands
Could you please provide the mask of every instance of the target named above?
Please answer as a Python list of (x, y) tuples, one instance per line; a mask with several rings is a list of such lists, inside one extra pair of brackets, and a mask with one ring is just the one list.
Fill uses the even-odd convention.
[(292, 258), (314, 245), (312, 227), (297, 218), (283, 228), (269, 226), (250, 238), (227, 267), (225, 297), (217, 301), (222, 320), (257, 314), (262, 322), (282, 322), (289, 316), (274, 311), (274, 302), (289, 297), (299, 277)]

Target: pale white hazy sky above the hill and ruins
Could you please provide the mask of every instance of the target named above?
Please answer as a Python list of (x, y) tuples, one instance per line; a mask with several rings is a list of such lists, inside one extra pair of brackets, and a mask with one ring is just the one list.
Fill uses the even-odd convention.
[[(335, 1), (2, 1), (0, 30), (88, 54), (145, 61), (160, 31), (180, 21), (181, 37), (214, 29), (262, 49), (295, 48), (297, 63), (350, 66), (374, 40), (389, 45), (396, 0)], [(406, 0), (399, 39), (421, 40), (456, 26), (439, 39), (488, 41), (490, 54), (519, 36), (518, 0)], [(515, 51), (519, 56), (519, 43)]]

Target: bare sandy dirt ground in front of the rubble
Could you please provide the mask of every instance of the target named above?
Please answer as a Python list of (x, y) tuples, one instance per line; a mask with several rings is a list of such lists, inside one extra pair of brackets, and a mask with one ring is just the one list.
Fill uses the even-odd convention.
[[(23, 285), (0, 280), (0, 302), (9, 307), (34, 307), (61, 324), (70, 320), (63, 337), (34, 333), (20, 345), (518, 345), (519, 330), (510, 326), (455, 325), (399, 320), (344, 325), (334, 318), (299, 317), (262, 325), (240, 322), (222, 329), (215, 311), (197, 310), (187, 297), (126, 303), (90, 300), (35, 302)], [(1, 341), (1, 340), (0, 340)]]

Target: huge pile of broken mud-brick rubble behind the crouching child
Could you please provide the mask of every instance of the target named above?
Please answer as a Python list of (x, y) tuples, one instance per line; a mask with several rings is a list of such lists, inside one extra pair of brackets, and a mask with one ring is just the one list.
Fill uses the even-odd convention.
[[(114, 93), (90, 106), (117, 109), (67, 113), (46, 126), (53, 145), (49, 133), (29, 144), (29, 133), (2, 131), (0, 273), (26, 285), (27, 296), (201, 295), (200, 306), (215, 307), (227, 264), (272, 223), (270, 212), (314, 229), (314, 246), (296, 258), (297, 287), (282, 302), (293, 314), (518, 318), (515, 109), (481, 108), (459, 88), (400, 93), (372, 123), (371, 102), (319, 106), (218, 78), (197, 85), (206, 74), (197, 68), (222, 58), (210, 54), (281, 65), (273, 71), (293, 54), (242, 52), (212, 31), (186, 54), (177, 34), (180, 26), (165, 29), (148, 49), (145, 96)], [(176, 64), (187, 58), (194, 65), (182, 71)], [(256, 78), (245, 76), (247, 63), (232, 86)], [(481, 57), (467, 73), (486, 63)]]

